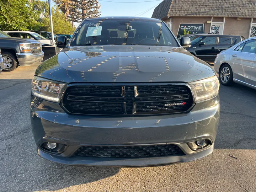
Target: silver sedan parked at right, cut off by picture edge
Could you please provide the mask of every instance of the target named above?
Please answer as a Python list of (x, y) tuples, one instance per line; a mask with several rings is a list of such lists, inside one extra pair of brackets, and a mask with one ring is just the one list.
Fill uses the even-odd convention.
[(219, 53), (214, 69), (223, 85), (236, 82), (256, 89), (256, 37), (245, 39)]

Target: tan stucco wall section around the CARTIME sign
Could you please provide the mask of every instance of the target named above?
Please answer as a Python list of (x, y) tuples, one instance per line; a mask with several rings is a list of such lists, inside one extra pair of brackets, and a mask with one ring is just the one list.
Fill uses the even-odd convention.
[[(180, 23), (204, 23), (204, 32), (210, 31), (210, 21), (212, 17), (172, 17), (172, 32), (177, 36), (178, 28)], [(164, 22), (169, 22), (169, 19), (164, 20)]]

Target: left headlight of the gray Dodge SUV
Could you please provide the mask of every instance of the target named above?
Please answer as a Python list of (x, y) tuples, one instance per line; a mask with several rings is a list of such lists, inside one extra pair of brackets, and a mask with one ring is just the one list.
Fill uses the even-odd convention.
[(66, 84), (34, 76), (32, 80), (32, 94), (48, 101), (60, 102)]

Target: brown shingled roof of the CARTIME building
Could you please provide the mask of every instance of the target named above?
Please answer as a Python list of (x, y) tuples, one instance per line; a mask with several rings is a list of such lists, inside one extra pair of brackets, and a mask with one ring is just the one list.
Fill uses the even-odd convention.
[(164, 0), (152, 18), (168, 16), (218, 16), (256, 18), (255, 0)]

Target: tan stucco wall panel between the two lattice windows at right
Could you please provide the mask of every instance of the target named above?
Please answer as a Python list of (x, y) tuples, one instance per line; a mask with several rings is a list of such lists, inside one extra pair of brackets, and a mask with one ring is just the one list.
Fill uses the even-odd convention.
[(240, 35), (247, 39), (249, 36), (250, 24), (250, 18), (236, 20), (236, 18), (226, 17), (223, 34)]

